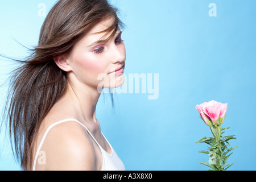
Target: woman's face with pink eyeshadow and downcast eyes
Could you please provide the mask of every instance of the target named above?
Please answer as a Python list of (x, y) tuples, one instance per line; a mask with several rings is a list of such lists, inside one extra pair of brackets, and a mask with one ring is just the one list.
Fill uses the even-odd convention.
[(117, 88), (125, 81), (126, 51), (121, 31), (117, 30), (106, 43), (102, 43), (102, 40), (112, 32), (98, 33), (106, 30), (112, 22), (110, 18), (94, 26), (75, 44), (67, 59), (73, 76), (82, 84), (98, 88), (99, 92), (99, 88)]

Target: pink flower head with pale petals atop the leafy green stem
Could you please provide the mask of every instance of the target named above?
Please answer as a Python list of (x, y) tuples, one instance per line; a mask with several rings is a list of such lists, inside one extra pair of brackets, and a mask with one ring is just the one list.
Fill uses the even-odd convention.
[(228, 104), (222, 104), (221, 102), (212, 100), (196, 105), (196, 109), (199, 111), (201, 118), (207, 125), (209, 124), (209, 121), (214, 124), (220, 124), (224, 120)]

